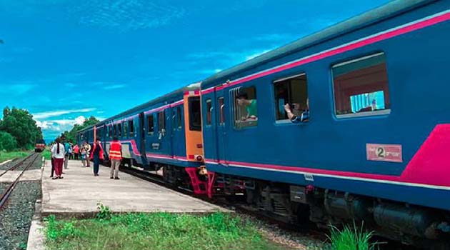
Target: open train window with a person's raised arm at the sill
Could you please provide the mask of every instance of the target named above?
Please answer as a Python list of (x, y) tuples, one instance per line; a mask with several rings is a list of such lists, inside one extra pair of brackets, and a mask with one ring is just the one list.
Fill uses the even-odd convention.
[(274, 81), (276, 121), (289, 119), (288, 112), (299, 116), (309, 110), (307, 85), (306, 74)]

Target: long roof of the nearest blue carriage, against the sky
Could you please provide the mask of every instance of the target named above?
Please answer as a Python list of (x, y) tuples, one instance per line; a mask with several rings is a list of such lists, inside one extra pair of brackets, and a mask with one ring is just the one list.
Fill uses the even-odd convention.
[(204, 87), (210, 86), (211, 84), (215, 85), (216, 81), (218, 80), (221, 81), (231, 80), (226, 79), (226, 77), (232, 74), (239, 74), (242, 71), (254, 68), (268, 61), (273, 61), (275, 59), (279, 59), (282, 56), (292, 54), (296, 51), (307, 49), (311, 46), (320, 44), (324, 41), (334, 39), (336, 36), (341, 36), (356, 29), (361, 29), (364, 26), (369, 26), (370, 24), (374, 24), (378, 21), (388, 19), (391, 16), (402, 14), (406, 11), (410, 11), (411, 9), (423, 6), (424, 4), (429, 4), (434, 1), (438, 0), (391, 1), (388, 4), (384, 4), (383, 6), (379, 6), (376, 9), (367, 11), (364, 14), (354, 16), (353, 18), (347, 19), (346, 21), (341, 21), (340, 23), (330, 26), (329, 28), (323, 29), (322, 31), (319, 31), (315, 34), (305, 36), (304, 38), (298, 39), (290, 44), (281, 46), (278, 49), (274, 49), (265, 54), (261, 54), (260, 56), (256, 56), (254, 59), (244, 61), (243, 63), (233, 66), (229, 69), (220, 71), (219, 73), (214, 74), (209, 78), (205, 79), (201, 85), (204, 89)]

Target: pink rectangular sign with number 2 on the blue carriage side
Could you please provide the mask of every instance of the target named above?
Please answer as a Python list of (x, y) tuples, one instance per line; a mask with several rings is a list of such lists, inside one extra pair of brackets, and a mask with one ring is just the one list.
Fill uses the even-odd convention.
[(401, 145), (396, 144), (366, 144), (368, 161), (403, 162)]

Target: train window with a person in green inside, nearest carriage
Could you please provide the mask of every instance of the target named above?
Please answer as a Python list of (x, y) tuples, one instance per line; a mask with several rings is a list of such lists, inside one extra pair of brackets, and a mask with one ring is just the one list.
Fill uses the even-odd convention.
[(234, 127), (236, 129), (242, 129), (258, 125), (255, 86), (231, 89), (231, 94), (235, 100), (233, 106)]

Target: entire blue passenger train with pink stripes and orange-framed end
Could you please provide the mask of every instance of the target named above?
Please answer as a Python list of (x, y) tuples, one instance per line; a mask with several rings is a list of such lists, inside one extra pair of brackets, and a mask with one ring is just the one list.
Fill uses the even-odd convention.
[[(449, 44), (449, 0), (392, 1), (96, 129), (107, 144), (111, 125), (133, 121), (129, 161), (196, 194), (450, 249)], [(146, 114), (161, 116), (153, 137)]]

